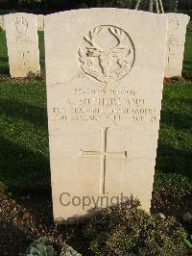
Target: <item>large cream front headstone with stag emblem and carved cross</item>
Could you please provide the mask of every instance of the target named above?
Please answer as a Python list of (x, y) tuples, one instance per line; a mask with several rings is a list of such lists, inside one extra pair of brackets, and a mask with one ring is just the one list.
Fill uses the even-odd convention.
[(56, 221), (90, 217), (131, 194), (150, 210), (166, 34), (167, 18), (155, 13), (45, 16)]

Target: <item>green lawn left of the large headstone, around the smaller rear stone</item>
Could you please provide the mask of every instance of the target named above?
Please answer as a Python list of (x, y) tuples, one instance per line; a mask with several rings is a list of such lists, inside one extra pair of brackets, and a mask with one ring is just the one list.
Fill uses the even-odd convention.
[[(44, 72), (43, 33), (38, 34)], [(0, 181), (9, 191), (50, 183), (46, 88), (9, 75), (5, 32), (0, 32)]]

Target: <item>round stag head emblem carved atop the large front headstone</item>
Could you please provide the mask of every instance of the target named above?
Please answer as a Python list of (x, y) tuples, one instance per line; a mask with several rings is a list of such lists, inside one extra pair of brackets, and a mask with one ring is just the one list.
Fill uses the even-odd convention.
[[(104, 48), (95, 42), (100, 33), (114, 37), (115, 46)], [(120, 28), (100, 26), (84, 36), (79, 48), (79, 62), (84, 73), (102, 83), (118, 80), (126, 76), (134, 63), (132, 39)]]

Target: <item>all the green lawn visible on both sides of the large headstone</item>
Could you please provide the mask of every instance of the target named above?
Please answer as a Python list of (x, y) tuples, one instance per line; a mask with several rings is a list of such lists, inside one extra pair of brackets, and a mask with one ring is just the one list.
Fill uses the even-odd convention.
[[(40, 64), (44, 70), (43, 33)], [(192, 77), (192, 32), (186, 36), (183, 74)], [(44, 79), (9, 78), (5, 32), (0, 32), (0, 181), (8, 191), (50, 187)], [(2, 76), (3, 75), (3, 76)], [(165, 85), (155, 190), (192, 192), (192, 84)]]

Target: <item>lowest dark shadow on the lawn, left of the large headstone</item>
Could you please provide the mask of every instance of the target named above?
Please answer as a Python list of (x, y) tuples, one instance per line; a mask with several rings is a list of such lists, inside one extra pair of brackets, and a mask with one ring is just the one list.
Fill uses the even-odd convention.
[(51, 186), (48, 157), (2, 137), (0, 144), (0, 176), (9, 190), (30, 191)]

